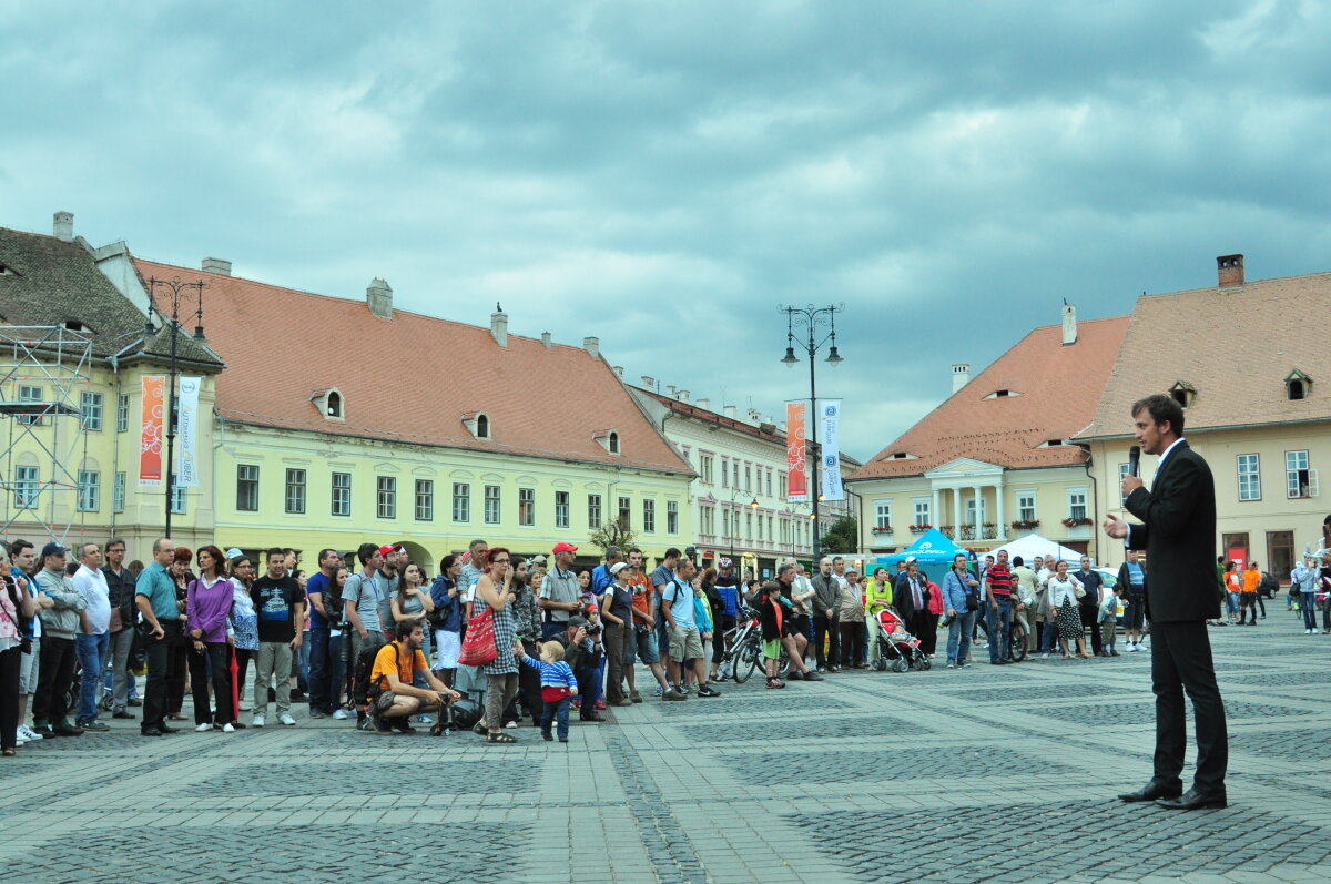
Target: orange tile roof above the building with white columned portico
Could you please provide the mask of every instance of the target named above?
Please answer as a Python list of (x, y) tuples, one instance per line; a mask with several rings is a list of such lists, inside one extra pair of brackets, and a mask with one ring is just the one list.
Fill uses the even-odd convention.
[[(1081, 463), (1079, 447), (1040, 446), (1090, 423), (1127, 321), (1078, 322), (1071, 346), (1061, 325), (1034, 329), (847, 481), (921, 475), (957, 458), (1012, 470)], [(985, 398), (997, 390), (1021, 395)], [(898, 453), (914, 457), (893, 459)]]

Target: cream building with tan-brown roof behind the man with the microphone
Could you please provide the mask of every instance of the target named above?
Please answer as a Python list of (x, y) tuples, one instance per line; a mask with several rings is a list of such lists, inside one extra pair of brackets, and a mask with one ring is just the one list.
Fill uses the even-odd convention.
[[(1142, 296), (1094, 418), (1077, 435), (1122, 513), (1133, 402), (1169, 393), (1185, 435), (1215, 477), (1217, 555), (1255, 558), (1288, 582), (1326, 546), (1319, 469), (1331, 463), (1331, 353), (1320, 317), (1331, 273), (1247, 282), (1243, 256), (1217, 258), (1215, 288)], [(1142, 461), (1147, 485), (1155, 458)]]

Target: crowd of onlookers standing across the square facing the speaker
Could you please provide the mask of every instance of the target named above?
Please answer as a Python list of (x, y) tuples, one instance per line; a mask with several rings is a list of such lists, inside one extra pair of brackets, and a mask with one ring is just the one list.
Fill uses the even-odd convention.
[[(651, 570), (639, 549), (611, 547), (595, 567), (576, 554), (558, 543), (527, 560), (478, 539), (430, 576), (402, 543), (325, 549), (309, 574), (290, 549), (252, 556), (162, 538), (144, 566), (125, 562), (118, 539), (0, 543), (0, 750), (106, 731), (106, 715), (169, 736), (188, 720), (186, 691), (198, 732), (291, 727), (293, 702), (375, 734), (413, 723), (438, 732), (459, 700), (483, 696), (470, 727), (486, 742), (516, 742), (520, 722), (567, 742), (571, 715), (602, 723), (602, 710), (643, 703), (643, 692), (721, 696), (743, 618), (756, 618), (773, 690), (870, 668), (890, 640), (884, 611), (925, 659), (945, 634), (948, 668), (970, 666), (976, 648), (993, 666), (1012, 663), (1014, 628), (1026, 659), (1143, 650), (1147, 575), (1133, 551), (1113, 588), (1089, 558), (1071, 568), (1005, 551), (958, 555), (941, 582), (910, 558), (872, 576), (843, 556), (824, 556), (813, 574), (788, 559), (760, 582), (725, 558), (700, 568), (676, 549)], [(1318, 583), (1331, 583), (1323, 564), (1310, 558), (1291, 574), (1291, 607), (1302, 604), (1310, 632)], [(1221, 567), (1235, 622), (1264, 618), (1256, 564)]]

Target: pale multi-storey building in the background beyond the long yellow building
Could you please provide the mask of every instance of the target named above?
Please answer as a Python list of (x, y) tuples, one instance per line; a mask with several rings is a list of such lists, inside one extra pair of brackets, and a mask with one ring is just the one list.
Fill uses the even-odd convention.
[[(696, 474), (689, 507), (699, 560), (709, 566), (729, 556), (760, 578), (775, 574), (779, 559), (808, 562), (812, 507), (787, 499), (785, 427), (756, 409), (744, 417), (733, 405), (716, 411), (709, 399), (692, 401), (688, 390), (667, 386), (663, 393), (655, 378), (642, 381), (630, 391)], [(815, 450), (807, 463), (817, 462)], [(858, 461), (841, 455), (843, 477), (858, 467)], [(820, 537), (851, 514), (849, 499), (821, 502)]]

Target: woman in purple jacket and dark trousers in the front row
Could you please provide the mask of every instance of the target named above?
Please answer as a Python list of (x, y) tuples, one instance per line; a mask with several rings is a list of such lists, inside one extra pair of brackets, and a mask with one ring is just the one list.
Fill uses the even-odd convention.
[[(198, 550), (198, 576), (190, 582), (185, 600), (189, 616), (189, 682), (194, 692), (194, 730), (200, 734), (220, 728), (236, 731), (232, 723), (232, 667), (228, 644), (228, 618), (232, 614), (232, 582), (222, 575), (222, 551), (216, 546)], [(208, 671), (212, 670), (216, 715), (208, 703)]]

